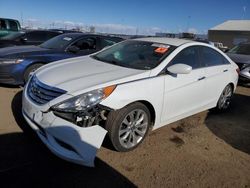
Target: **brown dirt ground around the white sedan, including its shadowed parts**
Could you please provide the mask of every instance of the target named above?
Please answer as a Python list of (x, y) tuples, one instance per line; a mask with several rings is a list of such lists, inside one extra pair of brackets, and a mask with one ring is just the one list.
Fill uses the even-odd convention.
[(228, 112), (172, 123), (134, 151), (106, 141), (95, 168), (51, 154), (23, 120), (21, 95), (0, 86), (0, 187), (250, 187), (250, 88), (237, 88)]

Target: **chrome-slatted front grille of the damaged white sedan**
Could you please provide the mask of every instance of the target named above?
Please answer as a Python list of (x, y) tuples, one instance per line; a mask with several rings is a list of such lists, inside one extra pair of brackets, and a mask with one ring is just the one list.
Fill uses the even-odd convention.
[(33, 76), (28, 85), (28, 96), (37, 104), (46, 104), (47, 102), (66, 93), (65, 90), (48, 86), (40, 82), (36, 76)]

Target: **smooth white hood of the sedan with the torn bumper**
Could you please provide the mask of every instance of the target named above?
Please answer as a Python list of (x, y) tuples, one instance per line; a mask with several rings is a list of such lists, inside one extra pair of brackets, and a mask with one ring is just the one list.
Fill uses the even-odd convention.
[(147, 78), (148, 70), (124, 68), (97, 61), (90, 56), (57, 61), (41, 67), (37, 78), (52, 87), (78, 95), (93, 89)]

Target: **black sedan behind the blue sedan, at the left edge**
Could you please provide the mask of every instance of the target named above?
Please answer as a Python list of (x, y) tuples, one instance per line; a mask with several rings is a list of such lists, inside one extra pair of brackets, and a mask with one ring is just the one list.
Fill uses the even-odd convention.
[(0, 48), (19, 45), (39, 45), (57, 35), (61, 31), (50, 30), (30, 30), (11, 33), (0, 39)]

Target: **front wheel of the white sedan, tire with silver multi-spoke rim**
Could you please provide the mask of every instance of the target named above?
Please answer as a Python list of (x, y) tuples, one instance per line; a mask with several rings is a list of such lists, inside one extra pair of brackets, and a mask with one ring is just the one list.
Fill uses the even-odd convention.
[(151, 122), (148, 108), (139, 102), (110, 112), (106, 121), (109, 138), (117, 151), (126, 152), (139, 146)]

